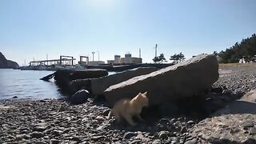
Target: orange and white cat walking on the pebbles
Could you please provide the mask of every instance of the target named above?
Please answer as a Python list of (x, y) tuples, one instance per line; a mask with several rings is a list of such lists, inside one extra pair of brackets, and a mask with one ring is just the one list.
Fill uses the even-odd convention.
[(144, 106), (149, 106), (149, 99), (146, 97), (146, 93), (138, 93), (138, 95), (132, 99), (123, 98), (116, 102), (110, 110), (108, 118), (114, 114), (116, 120), (118, 122), (121, 121), (121, 118), (126, 119), (126, 122), (130, 124), (130, 126), (135, 126), (136, 123), (133, 121), (132, 117), (136, 116), (140, 121), (144, 121), (140, 116), (142, 112), (142, 108)]

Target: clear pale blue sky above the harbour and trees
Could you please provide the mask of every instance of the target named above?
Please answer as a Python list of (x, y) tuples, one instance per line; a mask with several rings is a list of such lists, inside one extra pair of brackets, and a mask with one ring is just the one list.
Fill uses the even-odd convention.
[(0, 0), (0, 51), (26, 62), (60, 54), (143, 62), (221, 51), (256, 33), (254, 0)]

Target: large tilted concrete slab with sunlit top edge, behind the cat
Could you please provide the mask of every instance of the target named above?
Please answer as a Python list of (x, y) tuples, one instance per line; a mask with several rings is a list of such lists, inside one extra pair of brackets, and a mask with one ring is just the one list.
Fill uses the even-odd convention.
[(218, 62), (214, 55), (200, 54), (186, 62), (153, 73), (130, 78), (104, 91), (110, 106), (121, 98), (133, 98), (148, 91), (150, 105), (192, 97), (208, 90), (218, 80)]

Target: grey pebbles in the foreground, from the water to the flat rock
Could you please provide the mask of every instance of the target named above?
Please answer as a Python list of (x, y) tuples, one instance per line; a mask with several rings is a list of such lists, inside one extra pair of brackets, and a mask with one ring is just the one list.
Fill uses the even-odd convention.
[(1, 102), (0, 143), (184, 143), (196, 142), (186, 118), (150, 119), (130, 127), (106, 119), (109, 108), (89, 99)]

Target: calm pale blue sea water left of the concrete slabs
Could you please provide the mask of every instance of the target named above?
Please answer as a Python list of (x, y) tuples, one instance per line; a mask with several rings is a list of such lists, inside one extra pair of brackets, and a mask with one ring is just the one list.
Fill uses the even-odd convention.
[(0, 69), (0, 99), (18, 98), (43, 99), (63, 98), (64, 96), (52, 82), (40, 78), (53, 71)]

